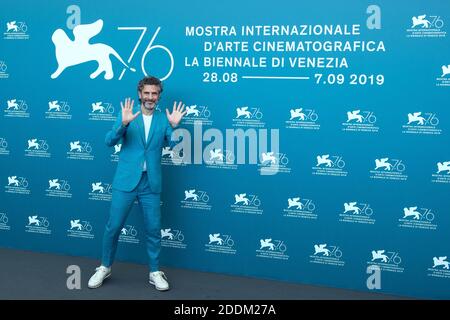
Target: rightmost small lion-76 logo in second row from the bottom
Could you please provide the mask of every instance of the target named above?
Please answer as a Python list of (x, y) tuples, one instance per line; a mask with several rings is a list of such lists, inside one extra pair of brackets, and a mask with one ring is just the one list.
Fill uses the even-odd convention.
[(434, 222), (435, 212), (429, 208), (419, 208), (419, 206), (405, 207), (401, 217), (398, 219), (398, 226), (413, 229), (436, 230), (437, 224)]

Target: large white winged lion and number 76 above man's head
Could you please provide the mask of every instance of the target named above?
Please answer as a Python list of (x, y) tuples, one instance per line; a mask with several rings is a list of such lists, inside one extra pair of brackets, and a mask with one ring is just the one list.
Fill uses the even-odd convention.
[[(147, 33), (147, 27), (118, 27), (118, 31), (132, 31), (138, 32), (140, 34), (136, 35), (137, 42), (134, 44), (134, 49), (129, 50), (130, 56), (125, 62), (122, 57), (114, 50), (113, 47), (104, 43), (92, 43), (92, 38), (98, 35), (103, 28), (103, 20), (98, 19), (97, 21), (90, 24), (79, 24), (73, 28), (73, 38), (66, 34), (63, 29), (57, 29), (52, 34), (52, 42), (55, 46), (55, 57), (58, 67), (55, 72), (51, 74), (52, 79), (58, 78), (67, 68), (77, 66), (89, 61), (96, 61), (98, 68), (90, 74), (91, 79), (97, 78), (100, 74), (104, 73), (103, 78), (106, 80), (111, 80), (114, 77), (113, 64), (111, 61), (111, 55), (114, 56), (122, 65), (122, 72), (119, 75), (118, 80), (121, 80), (126, 71), (130, 70), (135, 72), (136, 70), (129, 66), (131, 63), (136, 63), (133, 61), (136, 49), (141, 47), (141, 42), (145, 38)], [(167, 55), (170, 59), (169, 70), (165, 74), (156, 74), (152, 71), (162, 81), (170, 77), (173, 67), (174, 58), (171, 51), (162, 45), (155, 44), (156, 37), (160, 31), (158, 27), (155, 33), (151, 36), (151, 40), (145, 47), (145, 51), (140, 59), (140, 66), (142, 73), (147, 76), (146, 70), (146, 60), (150, 59), (147, 57), (149, 54), (155, 54), (156, 52), (162, 51), (163, 54)], [(145, 46), (145, 45), (144, 45)], [(152, 66), (153, 67), (153, 66)], [(157, 72), (158, 73), (158, 72)]]

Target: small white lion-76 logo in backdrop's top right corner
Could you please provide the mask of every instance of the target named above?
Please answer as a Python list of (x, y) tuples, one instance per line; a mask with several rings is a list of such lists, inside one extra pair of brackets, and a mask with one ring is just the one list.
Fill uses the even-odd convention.
[(433, 14), (419, 14), (411, 18), (409, 28), (406, 29), (408, 38), (444, 38), (447, 34), (442, 28), (444, 20)]

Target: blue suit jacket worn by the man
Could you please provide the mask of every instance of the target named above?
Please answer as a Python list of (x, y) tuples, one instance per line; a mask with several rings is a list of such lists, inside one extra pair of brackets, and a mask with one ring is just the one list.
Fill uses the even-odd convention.
[[(135, 106), (133, 113), (139, 110), (140, 105)], [(161, 153), (166, 142), (171, 141), (172, 131), (167, 116), (155, 109), (146, 143), (142, 113), (128, 127), (123, 127), (120, 111), (117, 121), (105, 137), (105, 143), (109, 147), (122, 143), (112, 187), (121, 191), (132, 191), (141, 179), (145, 160), (150, 189), (153, 193), (160, 193)]]

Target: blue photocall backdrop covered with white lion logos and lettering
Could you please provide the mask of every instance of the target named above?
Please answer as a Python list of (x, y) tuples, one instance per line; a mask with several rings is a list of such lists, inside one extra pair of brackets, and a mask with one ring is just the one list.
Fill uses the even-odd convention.
[[(189, 107), (162, 151), (164, 266), (450, 298), (449, 9), (3, 3), (0, 246), (100, 257), (104, 137), (154, 75), (163, 112)], [(117, 259), (147, 263), (143, 234), (136, 204)]]

